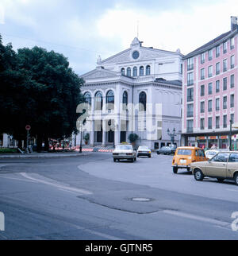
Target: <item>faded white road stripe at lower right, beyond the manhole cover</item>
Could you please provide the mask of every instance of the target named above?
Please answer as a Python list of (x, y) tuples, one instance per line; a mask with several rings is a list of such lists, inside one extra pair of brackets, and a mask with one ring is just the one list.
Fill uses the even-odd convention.
[(206, 223), (212, 223), (214, 225), (218, 225), (221, 227), (227, 227), (227, 226), (231, 225), (231, 223), (227, 223), (225, 221), (221, 221), (221, 220), (217, 220), (217, 219), (210, 219), (210, 218), (206, 218), (206, 217), (202, 217), (202, 216), (198, 216), (198, 215), (192, 215), (192, 214), (181, 212), (181, 211), (164, 210), (163, 212), (170, 214), (170, 215), (175, 215), (178, 217), (186, 218), (186, 219), (194, 219), (194, 220), (199, 220), (199, 221), (206, 222)]

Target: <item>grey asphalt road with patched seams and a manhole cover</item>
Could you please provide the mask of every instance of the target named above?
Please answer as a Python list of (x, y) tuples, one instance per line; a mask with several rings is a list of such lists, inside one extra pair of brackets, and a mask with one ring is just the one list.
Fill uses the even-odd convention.
[(2, 159), (0, 239), (238, 239), (238, 187), (175, 175), (171, 159)]

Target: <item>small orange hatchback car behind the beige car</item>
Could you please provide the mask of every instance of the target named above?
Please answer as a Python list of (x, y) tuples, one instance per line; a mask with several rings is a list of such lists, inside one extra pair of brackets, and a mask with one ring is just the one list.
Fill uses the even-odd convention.
[(173, 158), (173, 172), (178, 173), (178, 169), (187, 169), (190, 171), (190, 164), (196, 161), (207, 161), (203, 149), (194, 146), (181, 146), (175, 151)]

